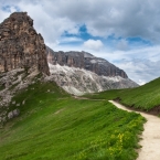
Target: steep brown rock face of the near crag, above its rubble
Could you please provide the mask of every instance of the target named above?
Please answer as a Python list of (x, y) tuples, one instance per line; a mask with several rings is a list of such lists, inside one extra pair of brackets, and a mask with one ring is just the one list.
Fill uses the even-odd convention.
[(45, 50), (26, 12), (14, 12), (0, 24), (0, 73), (36, 67), (49, 75)]

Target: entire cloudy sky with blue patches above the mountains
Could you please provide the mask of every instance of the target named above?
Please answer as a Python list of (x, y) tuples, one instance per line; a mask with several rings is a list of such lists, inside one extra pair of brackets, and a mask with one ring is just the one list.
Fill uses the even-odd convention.
[(160, 76), (160, 0), (0, 0), (0, 23), (26, 11), (54, 51), (86, 51), (140, 85)]

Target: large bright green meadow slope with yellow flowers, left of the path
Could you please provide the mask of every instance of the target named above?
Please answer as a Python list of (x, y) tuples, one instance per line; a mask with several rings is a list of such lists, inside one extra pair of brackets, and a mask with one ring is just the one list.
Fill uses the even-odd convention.
[(31, 85), (13, 100), (24, 99), (21, 115), (0, 129), (0, 160), (136, 159), (140, 115), (107, 100), (74, 99), (51, 83)]

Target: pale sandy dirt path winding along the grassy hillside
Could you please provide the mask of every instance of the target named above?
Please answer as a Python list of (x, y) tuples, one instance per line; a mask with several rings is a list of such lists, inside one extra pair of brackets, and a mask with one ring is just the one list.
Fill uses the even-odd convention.
[[(109, 102), (120, 109), (132, 111), (116, 102)], [(145, 113), (139, 114), (148, 121), (143, 126), (145, 130), (141, 136), (142, 140), (140, 141), (142, 148), (139, 150), (137, 160), (160, 160), (160, 118)]]

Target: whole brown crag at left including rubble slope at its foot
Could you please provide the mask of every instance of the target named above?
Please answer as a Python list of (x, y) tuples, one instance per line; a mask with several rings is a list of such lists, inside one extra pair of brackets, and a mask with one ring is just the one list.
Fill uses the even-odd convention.
[(0, 24), (0, 127), (17, 117), (17, 107), (25, 103), (24, 98), (22, 104), (11, 104), (12, 97), (46, 75), (50, 71), (43, 38), (26, 12), (12, 13)]

